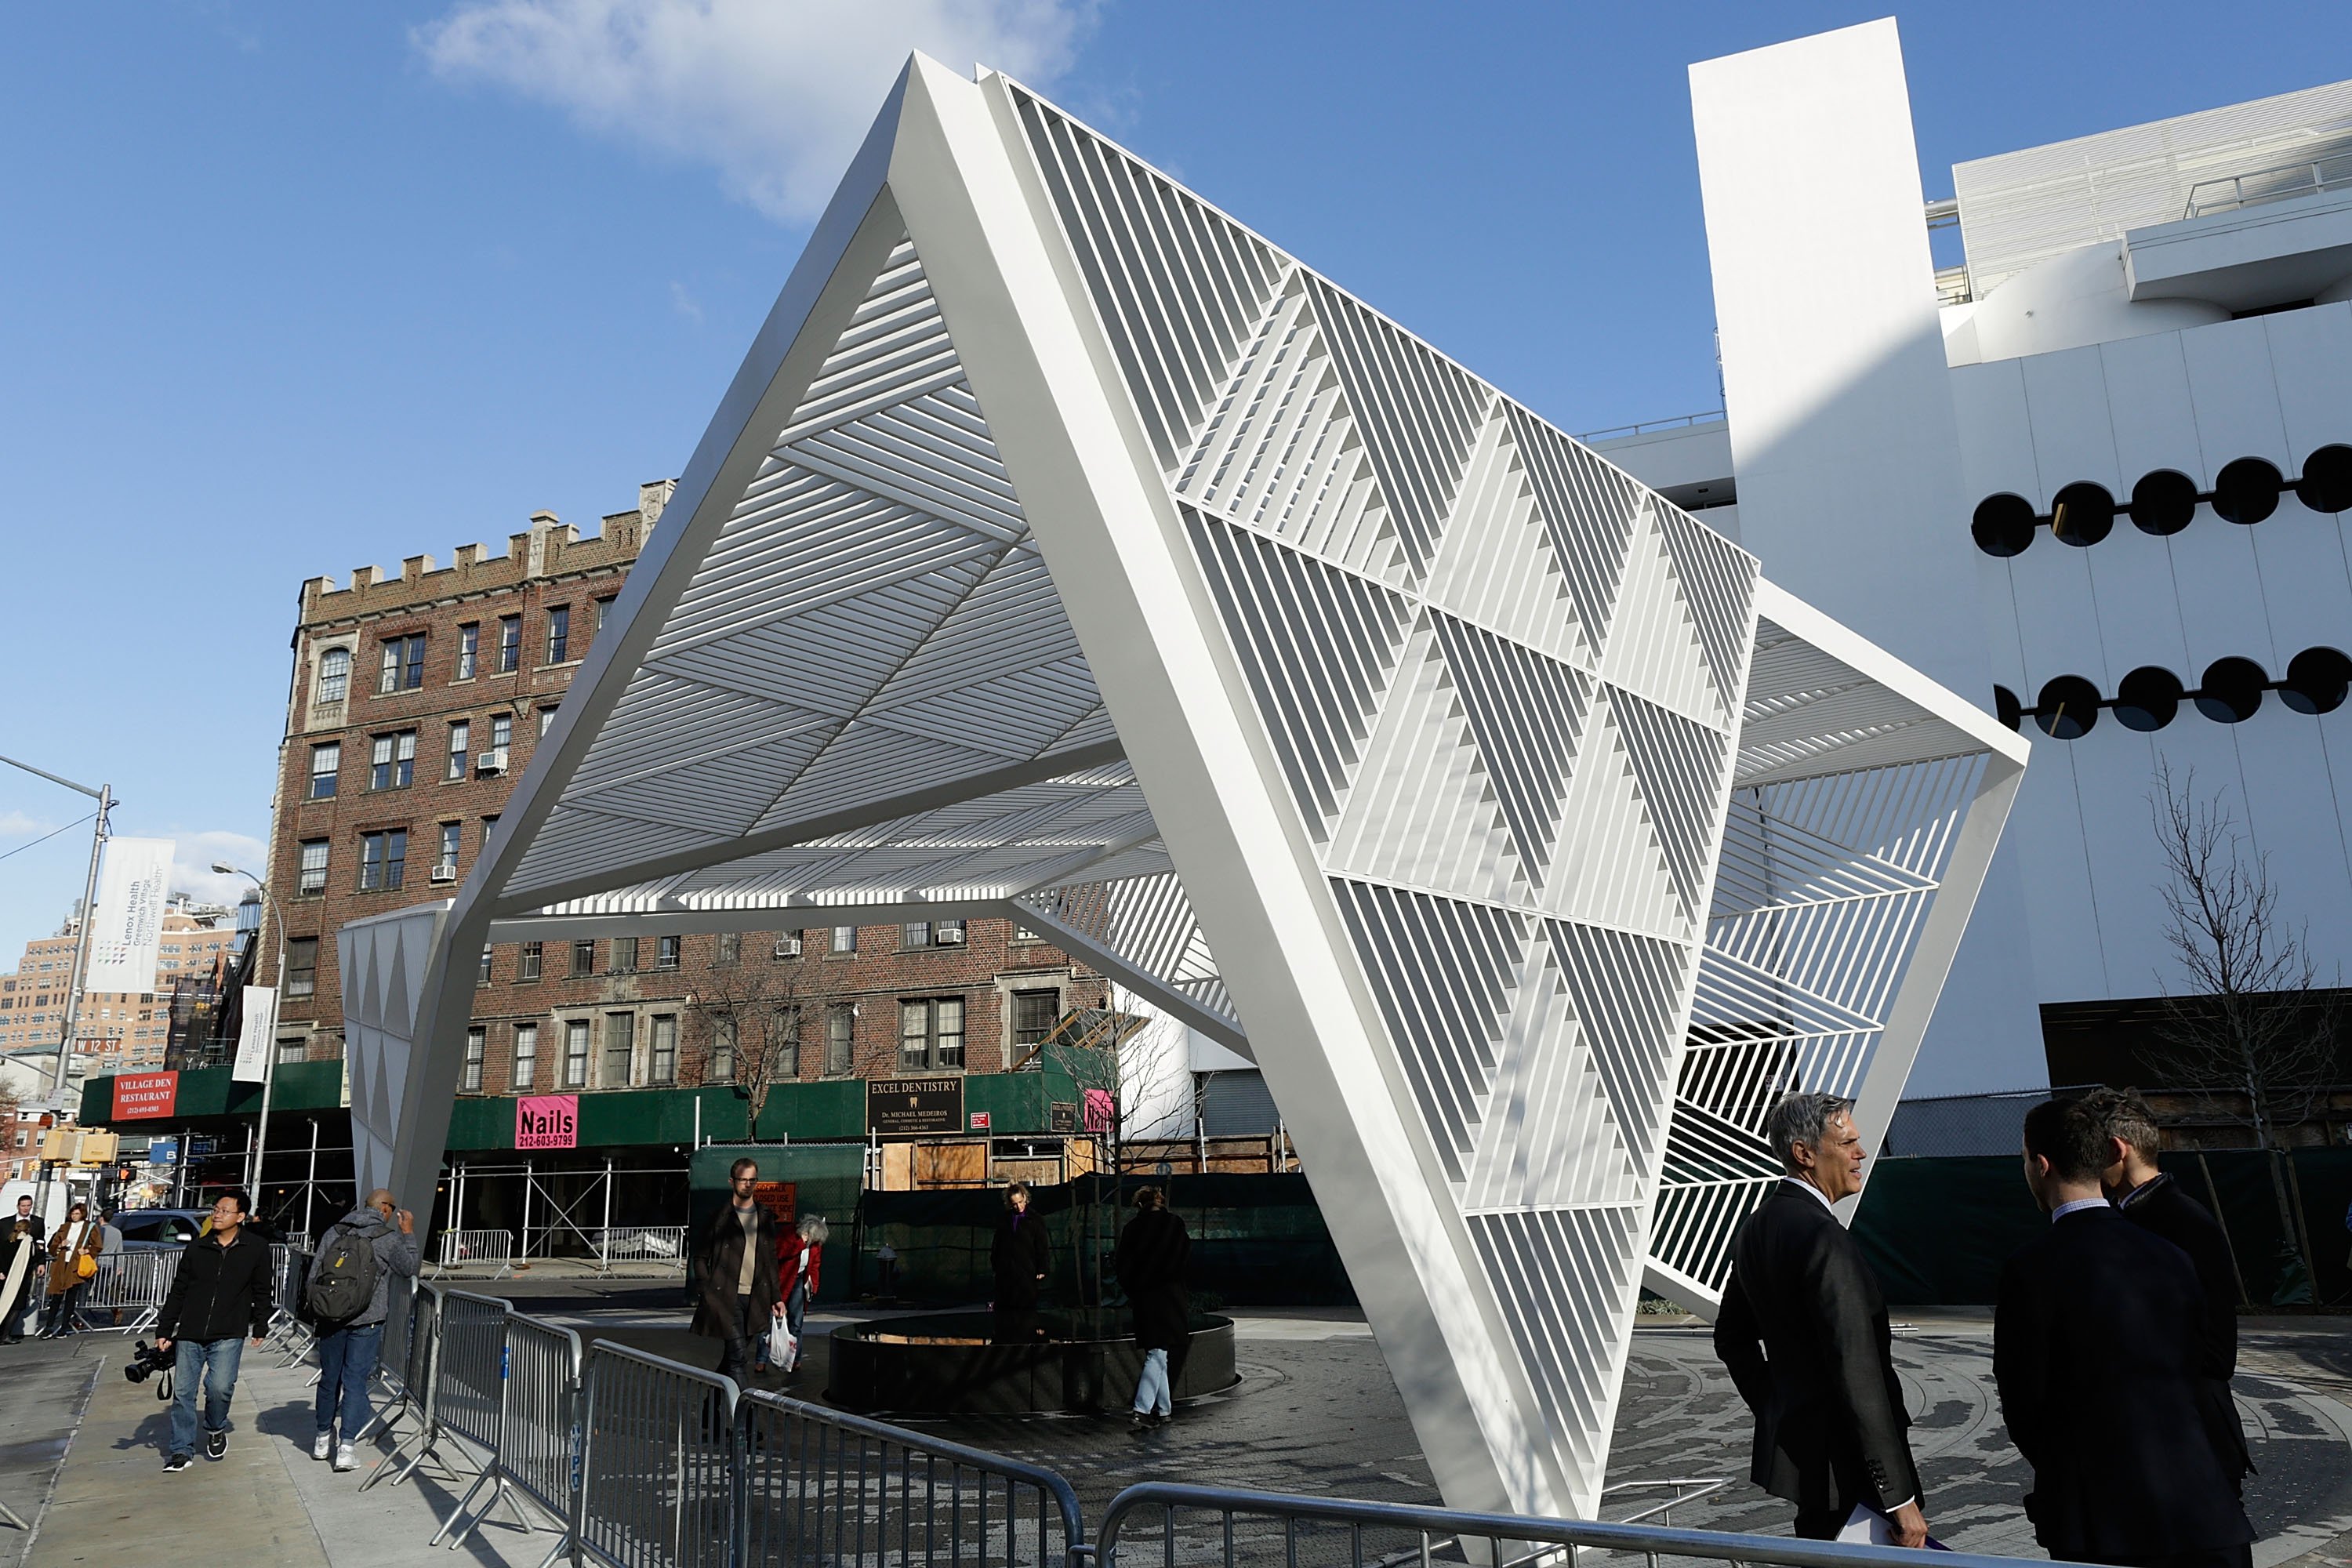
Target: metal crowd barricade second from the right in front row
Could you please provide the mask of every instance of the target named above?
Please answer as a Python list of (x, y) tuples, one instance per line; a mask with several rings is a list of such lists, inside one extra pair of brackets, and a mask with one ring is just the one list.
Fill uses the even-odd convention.
[(739, 1563), (1073, 1568), (1077, 1493), (1051, 1469), (861, 1415), (746, 1392)]

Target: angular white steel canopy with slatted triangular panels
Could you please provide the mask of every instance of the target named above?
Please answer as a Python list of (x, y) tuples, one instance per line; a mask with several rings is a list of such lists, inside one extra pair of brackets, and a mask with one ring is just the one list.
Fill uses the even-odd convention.
[(1590, 1512), (1644, 1272), (1884, 1126), (2023, 743), (1016, 82), (915, 59), (454, 905), (343, 931), (362, 1185), (485, 940), (1007, 914), (1256, 1058), (1456, 1507)]

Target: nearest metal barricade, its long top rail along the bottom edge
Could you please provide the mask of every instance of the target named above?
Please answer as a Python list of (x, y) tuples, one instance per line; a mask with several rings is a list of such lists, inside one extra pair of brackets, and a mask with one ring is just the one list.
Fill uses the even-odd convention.
[[(1141, 1540), (1138, 1540), (1141, 1537)], [(1477, 1563), (1484, 1568), (1573, 1568), (1581, 1547), (1625, 1552), (1646, 1568), (1668, 1556), (1778, 1568), (1917, 1568), (1903, 1547), (1860, 1547), (1835, 1540), (1729, 1535), (1651, 1523), (1597, 1519), (1531, 1519), (1524, 1514), (1463, 1514), (1397, 1502), (1291, 1497), (1221, 1486), (1145, 1481), (1110, 1500), (1096, 1537), (1101, 1568), (1117, 1568), (1120, 1549), (1136, 1547), (1138, 1563), (1176, 1568), (1399, 1568), (1404, 1563)], [(1947, 1552), (1936, 1568), (2018, 1568), (2013, 1556)]]

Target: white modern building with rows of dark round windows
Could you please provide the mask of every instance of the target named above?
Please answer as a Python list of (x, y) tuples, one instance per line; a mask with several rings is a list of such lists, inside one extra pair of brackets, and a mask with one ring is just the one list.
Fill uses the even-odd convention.
[(2159, 766), (2347, 964), (2352, 82), (1926, 179), (1893, 21), (1691, 103), (1729, 416), (1595, 447), (2034, 750), (1912, 1091), (2161, 994)]

